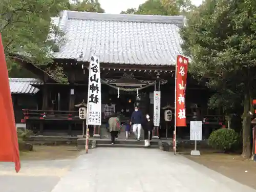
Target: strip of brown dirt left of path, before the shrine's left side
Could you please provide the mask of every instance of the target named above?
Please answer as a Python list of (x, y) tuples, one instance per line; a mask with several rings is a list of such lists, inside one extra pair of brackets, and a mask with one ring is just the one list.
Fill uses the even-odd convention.
[(75, 146), (33, 145), (32, 152), (21, 152), (21, 160), (74, 159), (80, 154)]

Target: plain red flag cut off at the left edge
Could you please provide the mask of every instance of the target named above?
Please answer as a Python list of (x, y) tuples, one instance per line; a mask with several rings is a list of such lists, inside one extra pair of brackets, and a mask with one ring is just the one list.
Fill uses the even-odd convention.
[(4, 47), (0, 34), (0, 161), (14, 162), (20, 170), (17, 130), (8, 79)]

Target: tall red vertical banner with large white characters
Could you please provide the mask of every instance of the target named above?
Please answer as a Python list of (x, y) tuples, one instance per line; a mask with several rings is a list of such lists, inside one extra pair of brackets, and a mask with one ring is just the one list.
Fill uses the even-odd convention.
[(176, 65), (175, 108), (176, 126), (186, 126), (186, 83), (188, 58), (178, 55)]

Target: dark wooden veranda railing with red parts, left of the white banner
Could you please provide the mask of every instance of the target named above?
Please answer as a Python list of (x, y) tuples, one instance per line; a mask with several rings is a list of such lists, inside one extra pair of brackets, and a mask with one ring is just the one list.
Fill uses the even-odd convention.
[(24, 119), (31, 120), (80, 120), (78, 111), (47, 111), (23, 109)]

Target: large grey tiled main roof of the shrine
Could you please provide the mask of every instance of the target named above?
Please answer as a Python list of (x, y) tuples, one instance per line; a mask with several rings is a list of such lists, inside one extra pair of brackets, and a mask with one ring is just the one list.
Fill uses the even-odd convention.
[(63, 11), (58, 25), (65, 40), (53, 56), (89, 61), (95, 54), (103, 63), (175, 65), (183, 23), (183, 16)]

